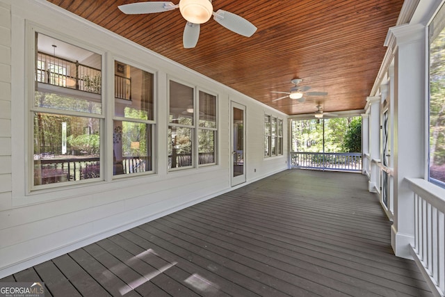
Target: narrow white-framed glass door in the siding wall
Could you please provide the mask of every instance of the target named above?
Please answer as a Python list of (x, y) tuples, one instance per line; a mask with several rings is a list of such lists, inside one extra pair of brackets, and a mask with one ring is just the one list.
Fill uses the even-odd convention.
[(232, 186), (245, 182), (245, 106), (232, 102)]

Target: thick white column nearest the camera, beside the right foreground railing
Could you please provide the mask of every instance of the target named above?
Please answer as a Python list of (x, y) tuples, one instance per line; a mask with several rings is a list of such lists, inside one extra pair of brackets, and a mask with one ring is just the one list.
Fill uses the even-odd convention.
[(389, 30), (394, 52), (394, 224), (391, 246), (398, 257), (411, 258), (414, 242), (414, 195), (405, 177), (425, 175), (425, 27), (401, 25)]

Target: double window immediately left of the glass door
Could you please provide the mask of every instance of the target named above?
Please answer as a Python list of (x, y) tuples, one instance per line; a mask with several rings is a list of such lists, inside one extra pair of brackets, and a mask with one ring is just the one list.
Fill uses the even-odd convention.
[(216, 96), (170, 81), (168, 168), (216, 163)]

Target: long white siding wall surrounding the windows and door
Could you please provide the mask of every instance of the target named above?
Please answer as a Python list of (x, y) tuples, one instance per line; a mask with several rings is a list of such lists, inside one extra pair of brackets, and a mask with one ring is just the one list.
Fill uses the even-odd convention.
[[(141, 63), (156, 70), (158, 169), (155, 175), (59, 188), (58, 191), (27, 192), (24, 78), (27, 75), (25, 24), (29, 21), (46, 29), (54, 28), (51, 30), (76, 42), (102, 49), (108, 65), (113, 56), (120, 56), (135, 61), (135, 65)], [(169, 77), (218, 94), (218, 166), (167, 172), (165, 115), (168, 114)], [(112, 93), (112, 86), (108, 88)], [(246, 184), (286, 169), (286, 137), (284, 156), (266, 160), (263, 157), (264, 113), (283, 119), (284, 136), (287, 135), (286, 115), (47, 1), (0, 0), (0, 278), (229, 191), (230, 101), (245, 105), (247, 111)]]

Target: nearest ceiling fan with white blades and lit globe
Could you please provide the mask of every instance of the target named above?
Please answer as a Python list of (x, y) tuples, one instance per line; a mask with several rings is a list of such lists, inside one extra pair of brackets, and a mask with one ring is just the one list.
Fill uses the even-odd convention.
[(182, 17), (187, 21), (182, 36), (182, 42), (186, 49), (196, 46), (197, 40), (200, 38), (200, 24), (207, 22), (212, 15), (216, 22), (234, 33), (250, 37), (257, 31), (256, 26), (239, 15), (221, 9), (216, 13), (213, 12), (211, 0), (179, 0), (179, 4), (170, 1), (147, 1), (124, 4), (118, 8), (127, 15), (163, 13), (179, 8)]

